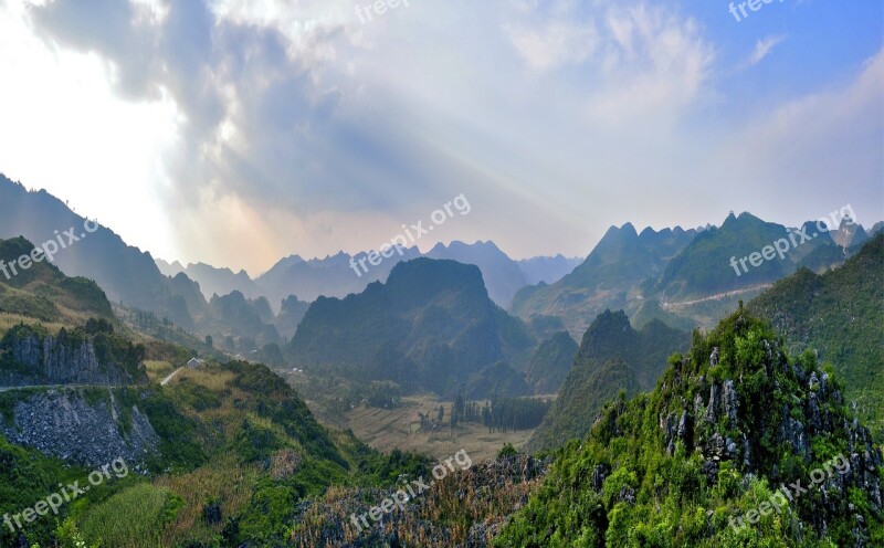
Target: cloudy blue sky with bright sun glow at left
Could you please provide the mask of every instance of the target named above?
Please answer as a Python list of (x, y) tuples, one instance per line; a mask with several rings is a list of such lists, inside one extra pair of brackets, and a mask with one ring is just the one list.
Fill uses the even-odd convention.
[(739, 3), (0, 0), (0, 172), (253, 275), (461, 194), (421, 249), (884, 219), (884, 2)]

